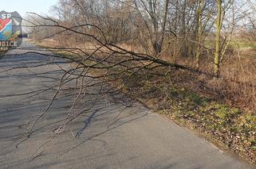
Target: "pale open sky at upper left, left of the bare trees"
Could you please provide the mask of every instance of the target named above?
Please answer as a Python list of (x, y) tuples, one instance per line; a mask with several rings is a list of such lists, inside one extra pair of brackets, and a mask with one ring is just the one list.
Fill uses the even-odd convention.
[(49, 13), (50, 7), (56, 3), (57, 0), (0, 0), (0, 11), (17, 11), (22, 17), (25, 17), (26, 12)]

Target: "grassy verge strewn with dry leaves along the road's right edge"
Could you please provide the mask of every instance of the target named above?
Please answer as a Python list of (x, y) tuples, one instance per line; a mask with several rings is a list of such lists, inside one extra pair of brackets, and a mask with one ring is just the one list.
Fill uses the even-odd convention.
[[(73, 57), (66, 52), (54, 53)], [(256, 165), (256, 112), (205, 97), (173, 82), (172, 78), (134, 74), (128, 83), (122, 83), (125, 80), (116, 83), (121, 83), (125, 93), (145, 106)], [(124, 75), (122, 79), (127, 77)]]

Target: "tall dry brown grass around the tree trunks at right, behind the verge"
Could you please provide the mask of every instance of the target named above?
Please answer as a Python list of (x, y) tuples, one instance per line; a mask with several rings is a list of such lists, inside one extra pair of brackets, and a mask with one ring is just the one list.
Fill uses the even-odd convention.
[[(256, 109), (256, 52), (252, 49), (228, 52), (221, 64), (221, 78), (212, 79), (208, 75), (213, 71), (213, 58), (202, 56), (200, 71), (207, 75), (186, 75), (176, 73), (179, 85), (202, 93), (218, 95), (220, 102), (242, 109)], [(179, 57), (176, 63), (195, 67), (194, 58)], [(193, 76), (193, 77), (191, 77)], [(183, 81), (187, 81), (183, 84)], [(200, 86), (200, 87), (199, 87)]]

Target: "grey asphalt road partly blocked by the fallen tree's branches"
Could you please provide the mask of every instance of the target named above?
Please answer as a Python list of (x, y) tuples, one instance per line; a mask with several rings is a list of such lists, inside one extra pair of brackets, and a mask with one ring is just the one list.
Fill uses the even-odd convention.
[[(72, 94), (61, 94), (27, 139), (23, 124), (40, 115), (54, 94), (40, 91), (57, 85), (63, 74), (60, 65), (72, 65), (40, 54), (21, 55), (24, 52), (15, 49), (0, 60), (1, 169), (253, 168), (140, 103), (126, 107), (106, 97), (51, 140), (72, 102)], [(93, 97), (85, 97), (77, 110), (90, 106)]]

